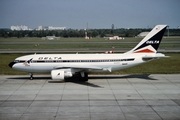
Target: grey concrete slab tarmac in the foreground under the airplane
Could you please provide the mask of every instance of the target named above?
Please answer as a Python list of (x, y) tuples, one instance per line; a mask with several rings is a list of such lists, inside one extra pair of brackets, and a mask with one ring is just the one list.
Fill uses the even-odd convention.
[(179, 120), (180, 74), (0, 76), (0, 120)]

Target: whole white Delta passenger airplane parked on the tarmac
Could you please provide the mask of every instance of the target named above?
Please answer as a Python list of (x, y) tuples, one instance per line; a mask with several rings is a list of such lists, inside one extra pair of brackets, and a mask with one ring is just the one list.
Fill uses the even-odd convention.
[(9, 66), (30, 73), (50, 72), (52, 80), (66, 80), (75, 75), (88, 81), (88, 73), (121, 70), (153, 59), (167, 57), (157, 53), (167, 25), (156, 25), (133, 49), (116, 54), (33, 54), (16, 58)]

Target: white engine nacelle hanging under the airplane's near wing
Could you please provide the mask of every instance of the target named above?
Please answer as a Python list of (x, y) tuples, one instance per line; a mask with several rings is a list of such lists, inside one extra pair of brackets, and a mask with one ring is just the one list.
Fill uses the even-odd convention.
[(52, 70), (51, 71), (51, 78), (53, 80), (64, 80), (65, 78), (72, 77), (73, 74), (68, 71), (63, 70)]

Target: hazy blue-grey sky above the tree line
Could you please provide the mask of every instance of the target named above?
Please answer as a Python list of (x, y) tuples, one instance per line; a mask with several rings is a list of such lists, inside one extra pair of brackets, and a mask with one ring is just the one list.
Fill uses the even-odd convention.
[(177, 28), (179, 11), (180, 0), (0, 0), (0, 28)]

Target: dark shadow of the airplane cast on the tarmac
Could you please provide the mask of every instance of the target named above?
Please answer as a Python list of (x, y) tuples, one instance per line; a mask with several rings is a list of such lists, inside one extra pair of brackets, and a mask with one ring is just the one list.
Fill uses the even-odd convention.
[[(144, 80), (158, 80), (158, 79), (154, 79), (152, 77), (149, 76), (150, 74), (141, 74), (141, 75), (94, 75), (94, 76), (89, 76), (88, 79), (124, 79), (124, 78), (139, 78), (139, 79), (144, 79)], [(29, 77), (10, 77), (8, 79), (14, 79), (14, 80), (29, 80)], [(90, 86), (90, 87), (99, 87), (99, 88), (103, 88), (99, 85), (95, 85), (93, 83), (90, 82), (82, 82), (80, 81), (77, 77), (73, 77), (70, 79), (67, 79), (66, 81), (55, 81), (55, 80), (51, 80), (50, 76), (35, 76), (33, 80), (49, 80), (49, 83), (64, 83), (64, 82), (72, 82), (75, 84), (80, 84), (80, 85), (86, 85), (86, 86)]]

